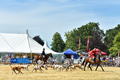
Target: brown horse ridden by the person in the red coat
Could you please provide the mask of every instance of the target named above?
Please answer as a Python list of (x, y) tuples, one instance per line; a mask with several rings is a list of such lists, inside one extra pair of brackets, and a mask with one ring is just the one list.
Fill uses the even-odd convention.
[[(84, 71), (85, 71), (85, 67), (86, 67), (87, 63), (89, 63), (89, 68), (91, 69), (91, 71), (92, 71), (92, 68), (90, 66), (91, 64), (97, 65), (97, 67), (95, 69), (96, 71), (97, 71), (98, 66), (100, 66), (102, 68), (102, 66), (100, 64), (101, 63), (100, 56), (101, 56), (101, 52), (99, 52), (97, 54), (95, 62), (93, 62), (90, 57), (85, 58), (85, 61), (84, 61)], [(103, 68), (102, 68), (102, 71), (104, 71)]]

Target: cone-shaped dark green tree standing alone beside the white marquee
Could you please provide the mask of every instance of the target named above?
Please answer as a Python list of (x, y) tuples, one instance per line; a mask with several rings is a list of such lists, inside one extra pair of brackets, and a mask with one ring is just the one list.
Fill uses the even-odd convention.
[(61, 35), (56, 32), (54, 35), (53, 35), (53, 38), (52, 38), (53, 42), (51, 44), (51, 49), (53, 51), (56, 51), (56, 52), (63, 52), (63, 49), (65, 48), (65, 43), (61, 37)]

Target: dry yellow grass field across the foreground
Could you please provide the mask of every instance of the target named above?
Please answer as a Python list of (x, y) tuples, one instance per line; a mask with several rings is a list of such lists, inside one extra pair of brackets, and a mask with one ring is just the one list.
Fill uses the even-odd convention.
[[(17, 65), (12, 65), (17, 66)], [(23, 74), (12, 74), (9, 65), (0, 65), (0, 80), (120, 80), (120, 67), (103, 67), (105, 72), (98, 68), (98, 71), (80, 69), (74, 71), (54, 71), (51, 68), (44, 72), (32, 72), (33, 65), (29, 66), (29, 70), (21, 70)]]

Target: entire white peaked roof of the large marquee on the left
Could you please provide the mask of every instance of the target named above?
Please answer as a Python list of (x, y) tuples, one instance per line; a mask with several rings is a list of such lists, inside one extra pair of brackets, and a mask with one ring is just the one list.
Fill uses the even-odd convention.
[(47, 43), (42, 46), (28, 34), (0, 33), (0, 53), (45, 53), (57, 54), (48, 48)]

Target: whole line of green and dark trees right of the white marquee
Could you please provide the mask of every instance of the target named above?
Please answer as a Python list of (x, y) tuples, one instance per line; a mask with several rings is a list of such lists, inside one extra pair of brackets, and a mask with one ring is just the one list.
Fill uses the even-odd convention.
[(117, 56), (120, 50), (120, 25), (113, 29), (104, 32), (99, 28), (99, 23), (89, 22), (81, 27), (75, 28), (71, 31), (65, 32), (65, 42), (63, 41), (60, 33), (56, 32), (53, 35), (51, 49), (56, 52), (63, 52), (68, 48), (76, 51), (79, 50), (79, 37), (80, 50), (88, 52), (87, 40), (89, 36), (89, 49), (99, 48), (106, 52), (108, 55)]

